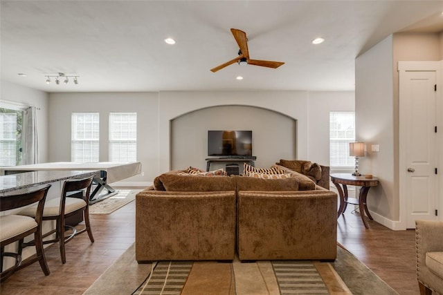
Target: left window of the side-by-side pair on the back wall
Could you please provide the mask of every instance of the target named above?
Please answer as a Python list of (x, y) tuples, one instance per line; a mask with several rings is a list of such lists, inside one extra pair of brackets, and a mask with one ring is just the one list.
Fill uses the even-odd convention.
[(72, 113), (72, 162), (98, 162), (99, 118), (99, 113)]

